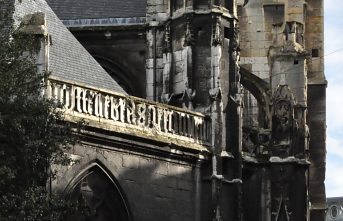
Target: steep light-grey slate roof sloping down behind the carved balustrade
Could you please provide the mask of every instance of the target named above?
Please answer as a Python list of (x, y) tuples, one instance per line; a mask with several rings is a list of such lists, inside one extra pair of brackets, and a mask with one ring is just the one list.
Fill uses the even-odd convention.
[(44, 12), (48, 33), (52, 38), (49, 67), (52, 76), (126, 94), (113, 78), (63, 25), (44, 0), (22, 0), (16, 5), (14, 17)]

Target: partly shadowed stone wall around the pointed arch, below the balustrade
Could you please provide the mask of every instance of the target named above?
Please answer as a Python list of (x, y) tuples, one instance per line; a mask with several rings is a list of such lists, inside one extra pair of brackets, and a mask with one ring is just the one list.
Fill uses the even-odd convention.
[(194, 162), (137, 152), (120, 144), (110, 147), (84, 142), (70, 154), (77, 162), (59, 168), (55, 190), (73, 192), (70, 188), (75, 179), (96, 163), (119, 185), (133, 220), (191, 221), (199, 212)]

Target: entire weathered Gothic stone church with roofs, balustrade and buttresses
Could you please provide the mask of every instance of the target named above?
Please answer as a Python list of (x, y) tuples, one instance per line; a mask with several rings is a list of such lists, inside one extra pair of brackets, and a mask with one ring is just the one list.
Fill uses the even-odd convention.
[[(323, 0), (23, 0), (84, 119), (54, 191), (92, 220), (324, 220)], [(41, 19), (31, 19), (35, 16)]]

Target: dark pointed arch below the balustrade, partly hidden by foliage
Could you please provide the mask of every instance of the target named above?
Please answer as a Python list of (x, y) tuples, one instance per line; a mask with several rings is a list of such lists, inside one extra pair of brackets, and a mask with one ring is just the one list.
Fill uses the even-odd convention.
[(67, 185), (71, 198), (83, 197), (95, 211), (91, 220), (133, 221), (124, 191), (111, 172), (99, 161), (91, 162)]

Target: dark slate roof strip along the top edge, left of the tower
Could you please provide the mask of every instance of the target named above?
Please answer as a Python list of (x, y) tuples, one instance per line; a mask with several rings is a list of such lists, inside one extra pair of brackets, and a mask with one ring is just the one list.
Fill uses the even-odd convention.
[(146, 0), (47, 0), (61, 20), (145, 17)]

